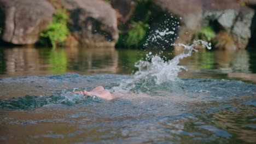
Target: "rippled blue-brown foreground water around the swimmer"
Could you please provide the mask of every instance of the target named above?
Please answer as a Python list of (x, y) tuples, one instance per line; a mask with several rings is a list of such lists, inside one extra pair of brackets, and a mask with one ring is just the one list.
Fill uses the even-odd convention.
[(249, 83), (181, 79), (152, 86), (150, 91), (137, 83), (111, 101), (73, 93), (98, 85), (112, 91), (121, 80), (130, 79), (134, 77), (106, 74), (0, 79), (1, 89), (5, 88), (0, 97), (6, 98), (0, 101), (1, 141), (255, 142), (256, 86)]

